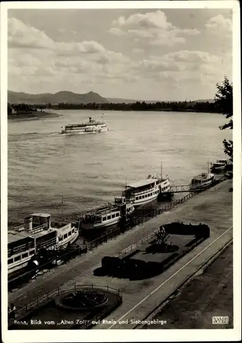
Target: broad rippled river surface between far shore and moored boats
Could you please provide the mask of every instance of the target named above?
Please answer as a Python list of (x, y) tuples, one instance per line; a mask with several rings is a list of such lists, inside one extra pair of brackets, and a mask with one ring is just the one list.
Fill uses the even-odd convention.
[[(208, 160), (225, 158), (219, 130), (226, 118), (216, 113), (107, 111), (110, 131), (60, 134), (67, 123), (101, 119), (100, 111), (60, 110), (62, 116), (8, 121), (8, 220), (23, 222), (34, 212), (60, 220), (112, 201), (128, 180), (168, 174), (186, 184)], [(62, 207), (62, 196), (64, 206)]]

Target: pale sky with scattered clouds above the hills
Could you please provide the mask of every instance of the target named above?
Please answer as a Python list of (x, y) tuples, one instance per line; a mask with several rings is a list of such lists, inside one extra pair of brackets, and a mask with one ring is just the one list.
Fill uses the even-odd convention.
[(232, 10), (8, 10), (8, 89), (213, 99), (232, 81)]

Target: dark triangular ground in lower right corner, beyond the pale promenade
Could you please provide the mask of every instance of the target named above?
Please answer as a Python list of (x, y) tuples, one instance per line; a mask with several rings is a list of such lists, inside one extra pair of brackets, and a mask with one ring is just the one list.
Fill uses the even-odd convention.
[[(213, 316), (226, 316), (228, 323), (213, 324)], [(156, 316), (167, 321), (162, 329), (232, 329), (233, 247), (228, 246), (204, 272), (187, 283)], [(160, 329), (149, 324), (142, 329)]]

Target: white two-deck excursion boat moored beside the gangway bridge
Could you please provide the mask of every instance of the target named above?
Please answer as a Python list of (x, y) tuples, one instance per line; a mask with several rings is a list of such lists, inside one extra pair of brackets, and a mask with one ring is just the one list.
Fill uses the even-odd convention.
[(149, 175), (144, 180), (137, 182), (130, 182), (125, 185), (123, 196), (126, 202), (132, 202), (134, 206), (139, 206), (151, 202), (158, 198), (158, 196), (171, 196), (171, 185), (168, 176), (162, 178), (161, 176)]

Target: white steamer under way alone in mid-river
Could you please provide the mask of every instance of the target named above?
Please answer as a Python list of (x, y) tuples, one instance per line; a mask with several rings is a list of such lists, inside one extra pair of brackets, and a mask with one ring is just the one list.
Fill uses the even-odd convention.
[(108, 130), (109, 128), (104, 121), (95, 121), (94, 119), (89, 117), (89, 121), (86, 121), (86, 123), (66, 125), (64, 129), (62, 128), (62, 134), (88, 134)]

